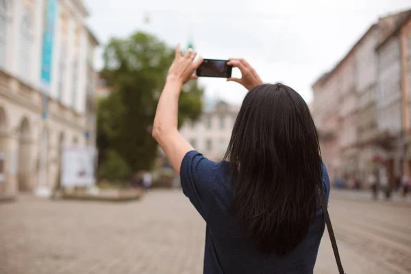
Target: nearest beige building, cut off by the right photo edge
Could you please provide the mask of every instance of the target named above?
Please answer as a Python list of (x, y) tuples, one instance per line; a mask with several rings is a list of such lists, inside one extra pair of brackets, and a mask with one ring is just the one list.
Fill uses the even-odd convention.
[(381, 24), (377, 51), (378, 129), (384, 132), (382, 147), (390, 185), (403, 174), (410, 175), (409, 83), (411, 79), (411, 10)]

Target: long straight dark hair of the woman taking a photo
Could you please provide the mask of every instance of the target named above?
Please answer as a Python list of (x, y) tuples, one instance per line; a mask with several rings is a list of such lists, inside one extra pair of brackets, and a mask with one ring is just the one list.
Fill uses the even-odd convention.
[(225, 159), (234, 179), (230, 215), (261, 251), (284, 255), (308, 234), (322, 192), (319, 140), (308, 105), (284, 84), (251, 89)]

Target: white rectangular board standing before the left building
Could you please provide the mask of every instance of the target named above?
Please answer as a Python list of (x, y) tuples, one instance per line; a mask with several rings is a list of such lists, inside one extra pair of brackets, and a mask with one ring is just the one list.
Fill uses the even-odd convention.
[(97, 150), (95, 147), (70, 145), (63, 147), (62, 186), (95, 184)]

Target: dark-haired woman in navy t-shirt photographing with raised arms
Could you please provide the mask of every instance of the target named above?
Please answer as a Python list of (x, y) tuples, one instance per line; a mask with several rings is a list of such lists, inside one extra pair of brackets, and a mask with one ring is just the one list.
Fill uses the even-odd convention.
[(203, 62), (179, 46), (153, 123), (153, 137), (181, 177), (182, 189), (206, 221), (203, 273), (312, 273), (325, 228), (320, 199), (329, 176), (308, 105), (284, 84), (262, 84), (248, 62), (245, 96), (225, 159), (213, 162), (177, 130), (182, 86)]

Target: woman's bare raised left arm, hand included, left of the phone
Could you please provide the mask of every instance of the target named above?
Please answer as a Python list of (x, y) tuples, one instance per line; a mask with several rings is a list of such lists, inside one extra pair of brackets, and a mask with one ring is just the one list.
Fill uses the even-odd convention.
[(153, 123), (153, 138), (169, 158), (173, 169), (179, 174), (184, 155), (194, 150), (177, 130), (178, 99), (182, 86), (190, 79), (197, 79), (193, 75), (203, 58), (194, 61), (197, 53), (188, 49), (182, 57), (179, 45), (175, 49), (175, 60), (169, 69), (166, 84), (158, 101), (157, 111)]

